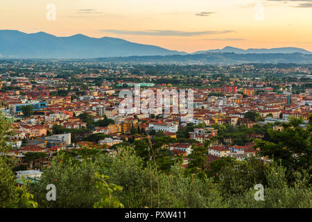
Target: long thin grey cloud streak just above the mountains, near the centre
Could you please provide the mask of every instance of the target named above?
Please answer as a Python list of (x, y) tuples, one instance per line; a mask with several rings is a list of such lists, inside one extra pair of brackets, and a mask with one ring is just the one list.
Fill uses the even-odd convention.
[(128, 31), (128, 30), (114, 30), (114, 29), (103, 29), (102, 31), (105, 33), (113, 33), (117, 35), (153, 35), (153, 36), (195, 36), (195, 35), (225, 34), (225, 33), (234, 32), (232, 30), (185, 32), (185, 31), (174, 31), (174, 30)]

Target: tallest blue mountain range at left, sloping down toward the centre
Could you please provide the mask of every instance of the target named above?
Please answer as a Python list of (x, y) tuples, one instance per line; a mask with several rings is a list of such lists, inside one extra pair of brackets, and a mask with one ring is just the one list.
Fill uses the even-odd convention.
[(86, 35), (56, 37), (48, 33), (0, 30), (0, 58), (98, 58), (114, 56), (166, 56), (187, 53), (137, 44), (113, 37)]

